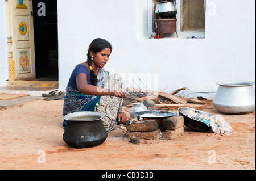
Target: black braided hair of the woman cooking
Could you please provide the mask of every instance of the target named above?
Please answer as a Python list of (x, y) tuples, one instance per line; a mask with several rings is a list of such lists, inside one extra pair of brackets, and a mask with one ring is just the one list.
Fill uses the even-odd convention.
[[(87, 53), (87, 62), (89, 67), (92, 66), (92, 56), (90, 56), (90, 52), (93, 51), (94, 54), (101, 52), (105, 48), (110, 48), (110, 53), (112, 52), (112, 46), (109, 43), (109, 41), (97, 38), (90, 43), (90, 46), (88, 48), (88, 53)], [(92, 82), (92, 85), (96, 86), (97, 85), (97, 77), (94, 74), (93, 70), (90, 70), (90, 81)]]

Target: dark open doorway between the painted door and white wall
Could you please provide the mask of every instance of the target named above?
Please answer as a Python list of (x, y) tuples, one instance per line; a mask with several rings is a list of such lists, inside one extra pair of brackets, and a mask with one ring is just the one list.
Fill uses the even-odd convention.
[(33, 18), (36, 79), (58, 81), (57, 0), (33, 0)]

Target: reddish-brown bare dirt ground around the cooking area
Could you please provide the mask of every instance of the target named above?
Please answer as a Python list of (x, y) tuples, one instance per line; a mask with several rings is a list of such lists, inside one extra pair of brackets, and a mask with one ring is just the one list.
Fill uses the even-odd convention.
[[(101, 145), (75, 149), (62, 138), (62, 108), (63, 100), (41, 99), (0, 110), (0, 169), (255, 169), (255, 111), (221, 114), (234, 129), (231, 136), (184, 126), (176, 140), (131, 144), (114, 130)], [(203, 111), (220, 114), (212, 104)]]

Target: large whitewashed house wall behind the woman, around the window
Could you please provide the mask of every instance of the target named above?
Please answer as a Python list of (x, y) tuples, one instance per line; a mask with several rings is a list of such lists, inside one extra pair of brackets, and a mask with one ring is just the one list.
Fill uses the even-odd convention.
[(86, 60), (88, 45), (96, 37), (112, 43), (105, 68), (122, 73), (127, 86), (134, 85), (130, 75), (135, 73), (146, 75), (148, 89), (189, 87), (186, 94), (216, 91), (217, 81), (255, 81), (254, 0), (207, 1), (205, 39), (159, 40), (146, 39), (147, 0), (70, 3), (58, 1), (60, 89), (65, 89), (75, 65)]

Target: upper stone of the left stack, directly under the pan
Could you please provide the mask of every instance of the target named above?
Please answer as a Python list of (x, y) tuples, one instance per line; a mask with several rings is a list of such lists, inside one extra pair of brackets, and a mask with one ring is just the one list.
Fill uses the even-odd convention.
[(130, 132), (148, 132), (156, 131), (159, 128), (159, 122), (156, 119), (136, 121), (132, 124), (126, 124), (126, 129)]

